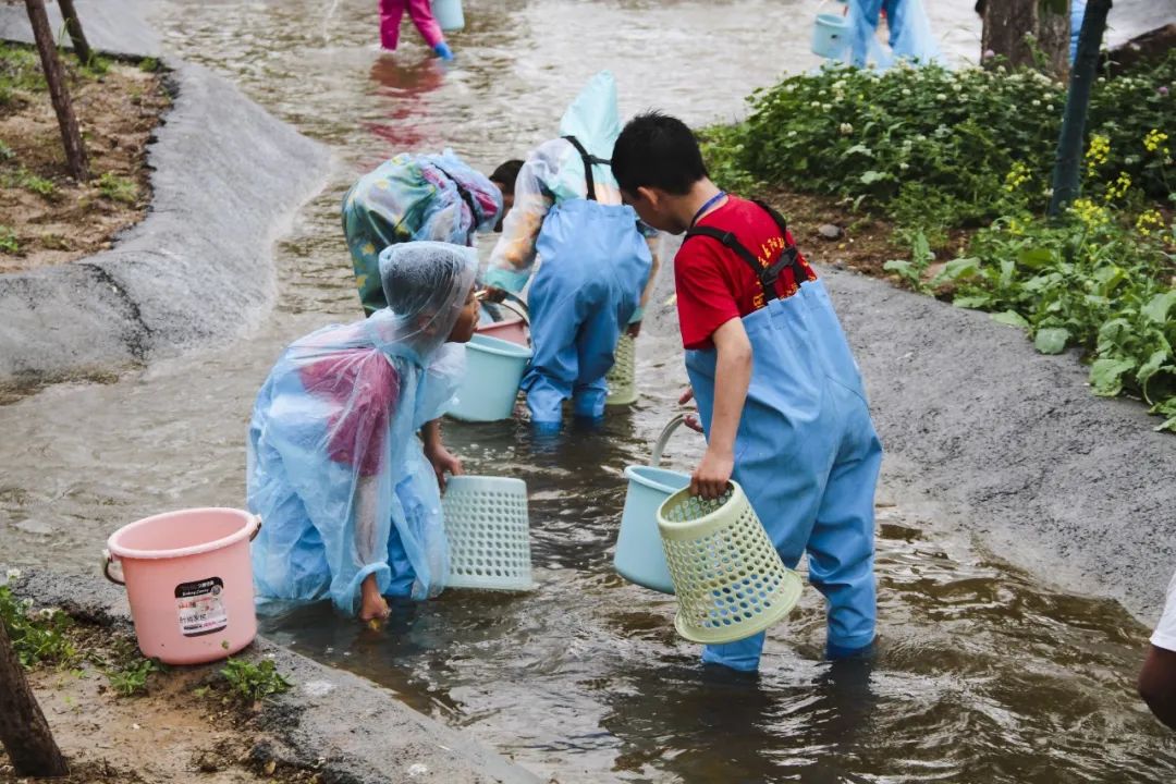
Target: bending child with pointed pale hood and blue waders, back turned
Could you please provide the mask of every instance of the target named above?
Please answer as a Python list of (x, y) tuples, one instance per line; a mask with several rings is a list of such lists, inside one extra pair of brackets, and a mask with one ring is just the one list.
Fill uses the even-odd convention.
[(616, 342), (624, 329), (636, 336), (656, 276), (657, 232), (621, 203), (608, 168), (620, 132), (616, 82), (604, 71), (563, 114), (561, 138), (523, 163), (486, 273), (492, 300), (530, 282), (534, 357), (522, 389), (541, 429), (559, 428), (568, 398), (577, 417), (603, 416)]

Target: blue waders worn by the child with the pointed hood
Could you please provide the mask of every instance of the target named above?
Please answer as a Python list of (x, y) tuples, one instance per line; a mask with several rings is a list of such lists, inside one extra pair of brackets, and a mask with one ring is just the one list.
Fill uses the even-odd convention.
[(522, 381), (533, 423), (557, 425), (568, 397), (576, 416), (604, 415), (604, 376), (653, 264), (636, 227), (632, 207), (592, 199), (556, 205), (543, 220), (527, 295), (534, 357)]

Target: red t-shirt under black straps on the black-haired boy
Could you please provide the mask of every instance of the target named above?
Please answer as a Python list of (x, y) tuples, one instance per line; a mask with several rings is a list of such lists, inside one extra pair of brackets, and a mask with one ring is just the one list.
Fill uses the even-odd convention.
[[(761, 263), (775, 263), (793, 243), (791, 232), (780, 236), (771, 215), (755, 202), (728, 196), (721, 207), (704, 215), (697, 226), (734, 232), (735, 237)], [(800, 256), (809, 277), (816, 277)], [(677, 290), (677, 320), (682, 344), (688, 349), (714, 348), (710, 336), (731, 319), (755, 313), (764, 304), (760, 279), (751, 267), (719, 240), (696, 236), (682, 243), (674, 256), (674, 287)], [(796, 292), (791, 267), (776, 280), (780, 296)]]

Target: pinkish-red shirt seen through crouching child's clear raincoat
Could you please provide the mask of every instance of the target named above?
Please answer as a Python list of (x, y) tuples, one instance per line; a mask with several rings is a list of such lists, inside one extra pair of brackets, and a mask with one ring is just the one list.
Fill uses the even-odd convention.
[(327, 421), (327, 454), (375, 476), (383, 463), (388, 421), (400, 398), (400, 376), (379, 350), (335, 351), (299, 368), (308, 393), (334, 403)]

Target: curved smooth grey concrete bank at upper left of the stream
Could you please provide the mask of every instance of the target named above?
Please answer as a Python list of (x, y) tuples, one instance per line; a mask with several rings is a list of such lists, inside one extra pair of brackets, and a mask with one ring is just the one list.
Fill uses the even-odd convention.
[[(93, 45), (159, 56), (138, 8), (132, 0), (78, 2)], [(0, 6), (0, 38), (31, 39), (24, 4)], [(146, 219), (108, 252), (0, 275), (0, 383), (230, 340), (272, 307), (274, 240), (321, 188), (329, 154), (206, 68), (162, 61), (174, 107), (148, 149)]]

